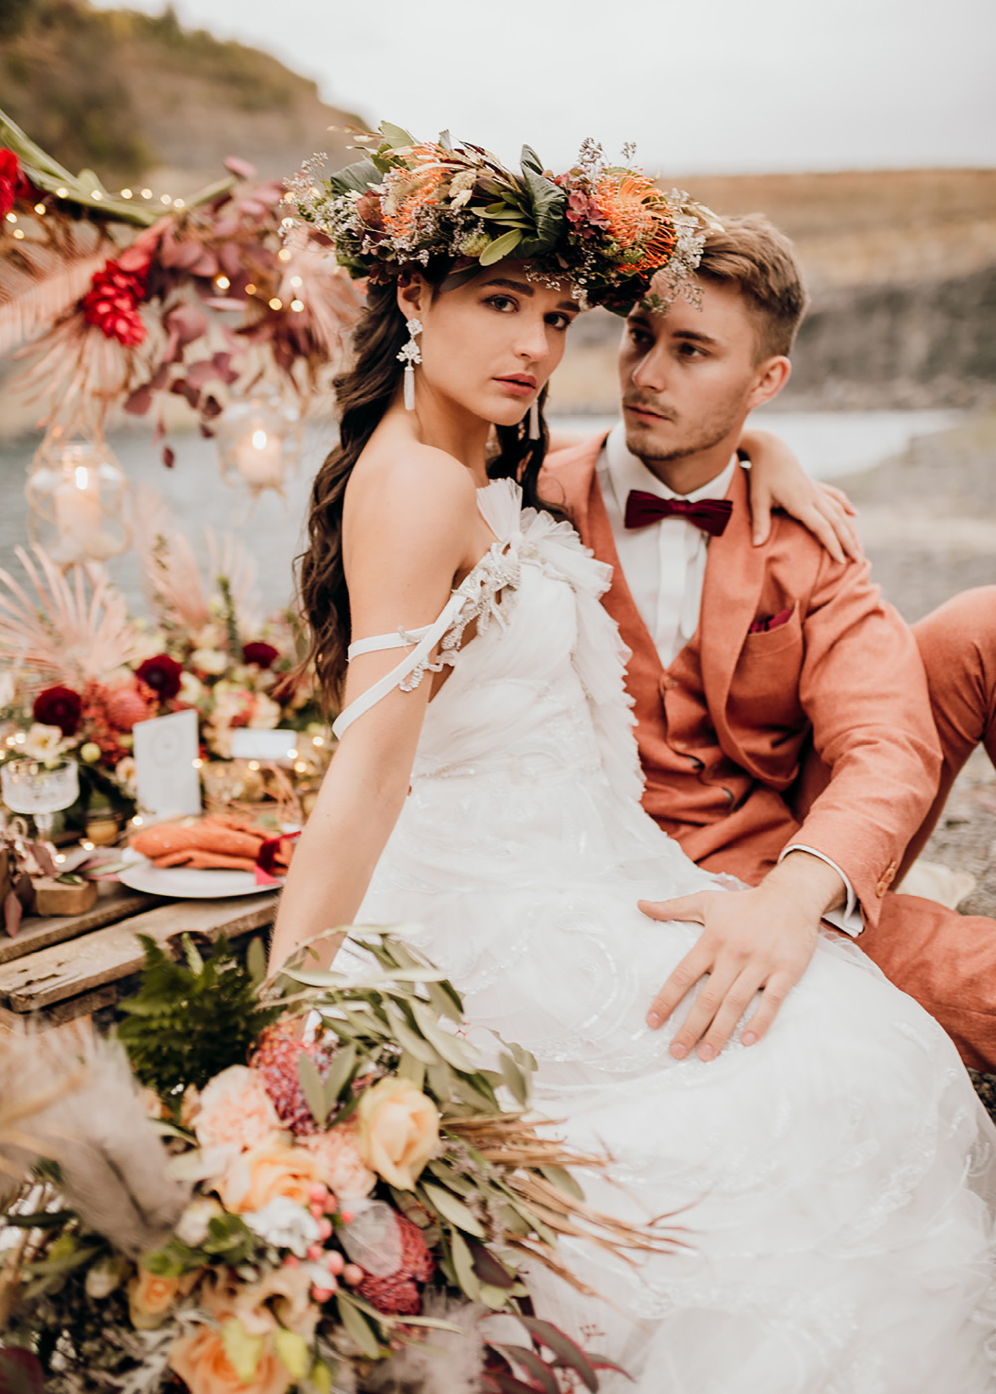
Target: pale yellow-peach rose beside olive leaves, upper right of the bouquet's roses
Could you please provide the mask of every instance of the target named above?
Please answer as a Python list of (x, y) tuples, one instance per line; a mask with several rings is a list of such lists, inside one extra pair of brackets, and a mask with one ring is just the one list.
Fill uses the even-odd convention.
[(356, 1111), (361, 1160), (399, 1190), (414, 1190), (439, 1142), (439, 1112), (407, 1079), (381, 1079)]

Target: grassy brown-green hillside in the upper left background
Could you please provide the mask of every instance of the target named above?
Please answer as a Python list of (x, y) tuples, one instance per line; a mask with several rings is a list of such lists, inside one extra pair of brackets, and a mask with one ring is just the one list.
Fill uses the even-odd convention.
[(356, 123), (276, 59), (172, 10), (91, 10), (85, 0), (0, 0), (0, 106), (68, 169), (107, 187), (169, 178), (184, 194), (226, 155), (264, 176), (296, 169), (315, 148), (345, 153), (329, 125)]

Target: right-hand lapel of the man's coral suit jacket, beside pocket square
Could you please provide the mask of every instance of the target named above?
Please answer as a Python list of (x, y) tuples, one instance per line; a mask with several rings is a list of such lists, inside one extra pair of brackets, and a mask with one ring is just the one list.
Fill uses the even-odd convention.
[(709, 544), (699, 613), (702, 683), (717, 736), (732, 739), (727, 697), (764, 584), (767, 549), (750, 537), (746, 471), (738, 468), (727, 491), (734, 510), (721, 537)]

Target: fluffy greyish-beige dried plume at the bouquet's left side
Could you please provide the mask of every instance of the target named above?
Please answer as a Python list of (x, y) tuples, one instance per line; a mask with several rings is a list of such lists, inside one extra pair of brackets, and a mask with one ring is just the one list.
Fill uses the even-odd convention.
[(172, 1231), (188, 1192), (167, 1174), (120, 1046), (93, 1039), (81, 1051), (57, 1033), (3, 1037), (0, 1101), (17, 1119), (0, 1133), (7, 1171), (24, 1178), (39, 1157), (57, 1161), (67, 1204), (128, 1256)]

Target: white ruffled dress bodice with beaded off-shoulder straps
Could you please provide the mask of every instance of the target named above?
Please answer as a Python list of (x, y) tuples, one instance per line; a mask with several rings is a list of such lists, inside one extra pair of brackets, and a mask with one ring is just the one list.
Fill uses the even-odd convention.
[(611, 569), (571, 524), (523, 510), (511, 480), (478, 489), (477, 506), (495, 542), (432, 625), (350, 645), (350, 658), (414, 648), (342, 712), (335, 735), (395, 687), (412, 691), (425, 672), (452, 666), (425, 714), (416, 779), (481, 774), (498, 760), (529, 778), (601, 772), (632, 804), (643, 776), (625, 693), (629, 652), (600, 604)]

